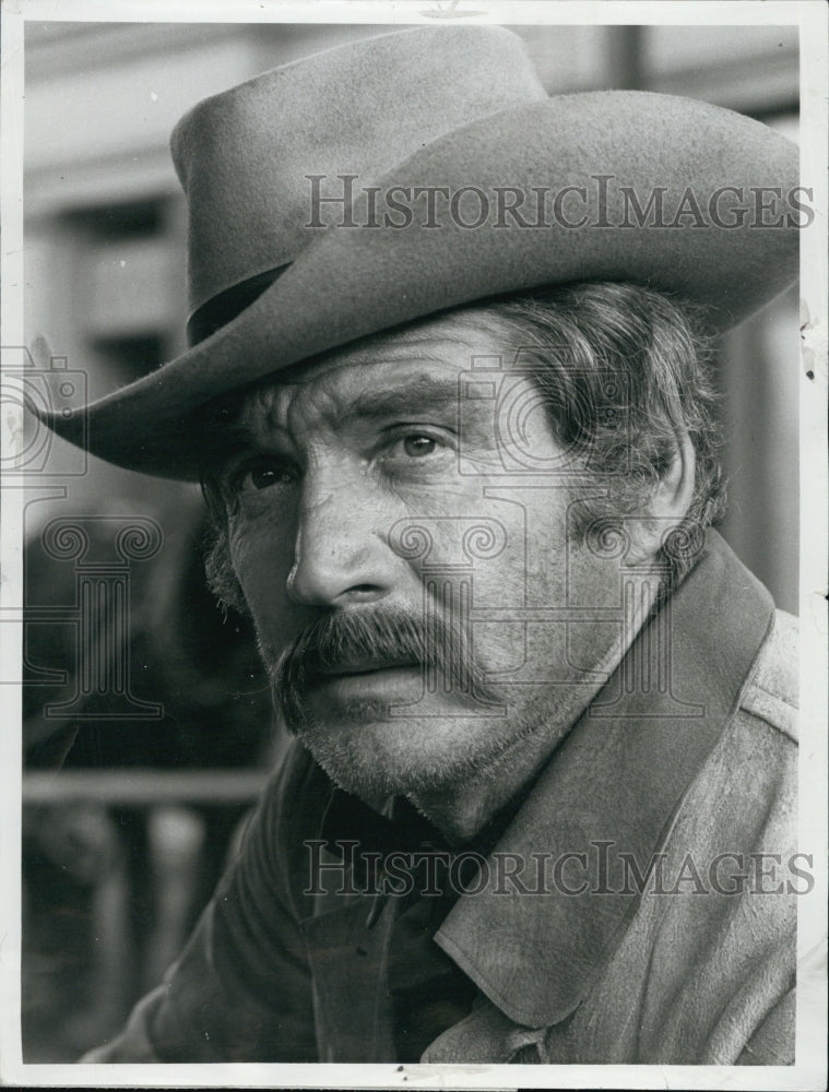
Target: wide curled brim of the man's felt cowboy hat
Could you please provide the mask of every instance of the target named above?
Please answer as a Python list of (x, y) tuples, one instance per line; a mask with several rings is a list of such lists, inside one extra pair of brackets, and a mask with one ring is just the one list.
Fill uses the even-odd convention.
[[(719, 333), (797, 275), (797, 218), (785, 206), (798, 182), (796, 146), (704, 103), (644, 92), (559, 96), (455, 130), (370, 182), (379, 227), (359, 226), (358, 212), (356, 227), (309, 227), (309, 245), (227, 325), (70, 417), (44, 414), (49, 427), (118, 465), (197, 479), (208, 403), (383, 329), (542, 285), (628, 281), (676, 294)], [(490, 216), (464, 226), (474, 214), (459, 205), (437, 227), (421, 215), (384, 225), (392, 187), (436, 186), (450, 194), (546, 190), (544, 224), (533, 226), (534, 205), (523, 225), (504, 215), (502, 225)], [(578, 217), (564, 203), (554, 214), (566, 187), (585, 193), (572, 198)], [(658, 190), (662, 214), (652, 207), (639, 224), (629, 194), (646, 210)], [(712, 218), (718, 192), (727, 200), (718, 199)], [(400, 214), (390, 221), (400, 224)]]

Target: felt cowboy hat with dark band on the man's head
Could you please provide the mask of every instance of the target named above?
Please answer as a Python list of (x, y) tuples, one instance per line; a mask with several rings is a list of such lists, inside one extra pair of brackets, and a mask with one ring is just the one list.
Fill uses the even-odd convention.
[(190, 347), (42, 415), (162, 476), (198, 476), (218, 395), (446, 308), (629, 281), (695, 305), (715, 333), (797, 272), (794, 145), (667, 95), (548, 97), (500, 27), (418, 27), (274, 69), (196, 106), (171, 151)]

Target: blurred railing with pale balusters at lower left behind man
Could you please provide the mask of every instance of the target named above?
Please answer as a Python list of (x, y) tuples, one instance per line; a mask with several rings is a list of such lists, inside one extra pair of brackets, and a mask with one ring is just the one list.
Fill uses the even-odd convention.
[(180, 952), (268, 775), (24, 773), (26, 1060), (71, 1061), (118, 1031)]

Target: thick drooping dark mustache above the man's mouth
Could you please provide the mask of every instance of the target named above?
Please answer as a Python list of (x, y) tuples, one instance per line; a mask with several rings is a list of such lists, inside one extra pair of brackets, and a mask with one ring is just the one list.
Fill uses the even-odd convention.
[(315, 684), (339, 670), (419, 666), (427, 693), (460, 693), (484, 705), (506, 701), (475, 660), (466, 627), (431, 610), (333, 610), (297, 634), (275, 663), (264, 650), (263, 657), (272, 664), (274, 701), (291, 729), (307, 721)]

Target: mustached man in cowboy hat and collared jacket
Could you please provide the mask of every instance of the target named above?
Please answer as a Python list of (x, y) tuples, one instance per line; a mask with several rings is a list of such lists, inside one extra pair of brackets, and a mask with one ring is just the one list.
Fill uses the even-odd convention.
[(707, 355), (794, 276), (794, 150), (429, 27), (173, 151), (192, 347), (88, 444), (201, 477), (284, 747), (90, 1060), (791, 1063), (793, 622), (710, 527)]

